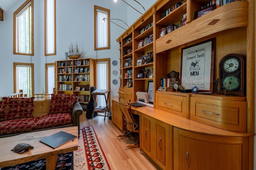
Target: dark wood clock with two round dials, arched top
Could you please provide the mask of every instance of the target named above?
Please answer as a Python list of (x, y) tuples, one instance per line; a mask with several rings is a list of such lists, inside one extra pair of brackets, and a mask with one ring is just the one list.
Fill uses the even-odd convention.
[(246, 56), (228, 54), (220, 61), (220, 90), (217, 94), (246, 96)]

